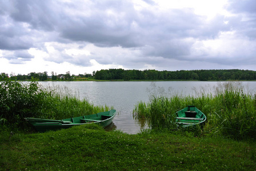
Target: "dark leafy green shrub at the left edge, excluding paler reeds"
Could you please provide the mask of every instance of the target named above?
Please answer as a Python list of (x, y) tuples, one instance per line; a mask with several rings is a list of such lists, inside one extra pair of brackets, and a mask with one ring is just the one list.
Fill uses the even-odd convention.
[(37, 82), (24, 84), (7, 79), (0, 84), (0, 111), (2, 124), (20, 125), (24, 117), (41, 115), (45, 99), (50, 93)]

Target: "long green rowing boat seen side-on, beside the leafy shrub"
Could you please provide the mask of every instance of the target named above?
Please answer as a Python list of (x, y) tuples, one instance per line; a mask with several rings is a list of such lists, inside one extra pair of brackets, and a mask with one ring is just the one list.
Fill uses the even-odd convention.
[(50, 130), (70, 128), (75, 125), (97, 123), (102, 127), (107, 127), (112, 123), (114, 116), (117, 114), (115, 109), (107, 112), (96, 113), (93, 115), (71, 117), (62, 120), (38, 119), (38, 118), (25, 118), (38, 132), (46, 132)]

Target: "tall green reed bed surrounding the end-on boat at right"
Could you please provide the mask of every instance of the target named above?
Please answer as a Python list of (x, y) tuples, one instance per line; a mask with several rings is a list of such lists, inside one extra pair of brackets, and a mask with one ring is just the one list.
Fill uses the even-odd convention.
[(206, 94), (202, 91), (197, 96), (165, 97), (162, 93), (151, 93), (148, 103), (141, 101), (135, 105), (134, 117), (138, 120), (146, 119), (150, 128), (177, 129), (174, 124), (175, 112), (187, 105), (195, 105), (207, 117), (200, 130), (204, 135), (225, 136), (237, 140), (255, 139), (256, 94), (247, 90), (245, 93), (240, 82), (222, 83), (214, 89), (213, 93)]

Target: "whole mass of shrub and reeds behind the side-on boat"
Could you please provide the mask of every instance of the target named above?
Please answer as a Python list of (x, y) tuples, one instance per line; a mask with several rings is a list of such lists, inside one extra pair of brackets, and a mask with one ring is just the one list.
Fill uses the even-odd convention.
[(88, 100), (61, 95), (42, 88), (38, 82), (23, 83), (5, 78), (0, 82), (0, 124), (25, 127), (25, 117), (65, 119), (109, 111)]

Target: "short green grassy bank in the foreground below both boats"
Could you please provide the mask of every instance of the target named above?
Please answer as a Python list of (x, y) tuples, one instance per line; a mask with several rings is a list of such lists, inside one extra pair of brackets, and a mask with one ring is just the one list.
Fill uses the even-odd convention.
[(1, 132), (1, 170), (254, 170), (255, 142), (187, 132), (105, 132), (98, 125), (61, 131)]

